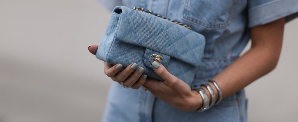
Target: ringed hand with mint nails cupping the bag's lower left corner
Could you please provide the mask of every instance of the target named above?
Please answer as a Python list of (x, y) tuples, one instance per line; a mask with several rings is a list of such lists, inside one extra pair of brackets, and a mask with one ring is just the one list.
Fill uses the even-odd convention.
[[(88, 47), (89, 52), (95, 54), (97, 51), (97, 45), (91, 45)], [(142, 75), (144, 68), (138, 68), (136, 63), (132, 63), (126, 68), (122, 68), (122, 64), (112, 65), (104, 62), (104, 72), (113, 81), (117, 81), (119, 84), (123, 82), (125, 86), (131, 86), (132, 89), (139, 89), (146, 81), (147, 75)]]

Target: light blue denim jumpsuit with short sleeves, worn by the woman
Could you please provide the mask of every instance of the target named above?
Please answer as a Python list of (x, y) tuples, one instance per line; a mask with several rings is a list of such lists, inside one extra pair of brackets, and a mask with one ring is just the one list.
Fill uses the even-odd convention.
[[(235, 61), (250, 39), (250, 28), (286, 17), (298, 16), (298, 0), (101, 0), (104, 7), (144, 7), (189, 25), (205, 36), (201, 65), (193, 89), (211, 79)], [(241, 81), (239, 81), (241, 82)], [(244, 90), (232, 94), (204, 112), (185, 112), (155, 98), (142, 88), (111, 86), (104, 122), (246, 122)]]

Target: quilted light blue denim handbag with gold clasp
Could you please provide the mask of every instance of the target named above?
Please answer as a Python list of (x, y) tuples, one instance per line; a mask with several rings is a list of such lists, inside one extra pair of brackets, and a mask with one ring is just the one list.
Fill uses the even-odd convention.
[(154, 73), (150, 63), (161, 60), (171, 74), (191, 85), (196, 67), (201, 63), (205, 38), (187, 25), (181, 25), (143, 8), (117, 6), (96, 57), (124, 67), (135, 62), (145, 68), (143, 74), (164, 81)]

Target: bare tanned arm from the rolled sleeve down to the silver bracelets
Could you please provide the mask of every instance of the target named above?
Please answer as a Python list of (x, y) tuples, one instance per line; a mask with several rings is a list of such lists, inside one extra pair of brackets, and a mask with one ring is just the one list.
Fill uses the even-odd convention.
[[(256, 79), (273, 70), (280, 57), (285, 19), (252, 28), (252, 46), (243, 56), (216, 75), (215, 80), (220, 86), (223, 98), (234, 94)], [(216, 89), (212, 83), (209, 83)], [(207, 88), (204, 88), (210, 94)], [(215, 90), (218, 97), (217, 90)]]

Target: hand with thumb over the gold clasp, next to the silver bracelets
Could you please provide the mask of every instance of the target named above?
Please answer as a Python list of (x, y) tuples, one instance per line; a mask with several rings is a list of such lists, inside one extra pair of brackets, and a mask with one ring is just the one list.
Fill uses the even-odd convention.
[(154, 72), (165, 81), (148, 78), (145, 86), (155, 97), (184, 111), (197, 110), (202, 105), (201, 95), (191, 90), (184, 81), (170, 74), (159, 62), (152, 63)]

